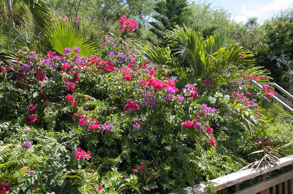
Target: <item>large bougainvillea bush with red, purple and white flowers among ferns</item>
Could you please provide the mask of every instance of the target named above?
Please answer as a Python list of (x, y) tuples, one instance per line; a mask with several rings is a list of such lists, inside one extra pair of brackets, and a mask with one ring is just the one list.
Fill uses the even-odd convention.
[(29, 51), (17, 71), (1, 65), (2, 193), (168, 193), (255, 159), (257, 99), (274, 94), (249, 79), (268, 76), (184, 81), (119, 33), (90, 57)]

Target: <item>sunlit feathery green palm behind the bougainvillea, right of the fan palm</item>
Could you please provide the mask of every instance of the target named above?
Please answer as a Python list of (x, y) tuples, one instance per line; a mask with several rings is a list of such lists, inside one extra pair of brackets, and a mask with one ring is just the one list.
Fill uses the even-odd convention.
[(242, 70), (253, 65), (253, 60), (247, 59), (253, 56), (250, 51), (244, 50), (224, 32), (204, 39), (195, 29), (176, 25), (173, 30), (165, 32), (164, 38), (171, 40), (173, 50), (156, 46), (145, 47), (139, 52), (146, 59), (175, 68), (181, 77), (186, 74), (184, 68), (191, 68), (192, 76), (200, 78), (211, 73), (220, 75), (229, 65), (237, 65)]

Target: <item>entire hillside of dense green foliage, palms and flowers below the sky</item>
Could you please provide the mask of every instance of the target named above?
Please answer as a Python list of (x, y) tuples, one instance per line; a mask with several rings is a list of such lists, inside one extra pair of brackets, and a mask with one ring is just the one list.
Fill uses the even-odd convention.
[[(289, 12), (259, 25), (179, 0), (157, 2), (155, 14), (140, 0), (3, 2), (0, 192), (170, 193), (204, 182), (214, 193), (211, 179), (263, 157), (248, 155), (262, 139), (293, 154), (292, 115), (270, 102), (266, 70), (276, 72), (274, 50), (292, 58)], [(147, 36), (161, 45), (139, 46)]]

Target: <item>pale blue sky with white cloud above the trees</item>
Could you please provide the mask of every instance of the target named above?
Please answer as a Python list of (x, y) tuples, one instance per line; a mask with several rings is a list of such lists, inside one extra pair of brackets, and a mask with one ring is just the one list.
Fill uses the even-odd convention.
[(207, 0), (212, 7), (221, 6), (228, 10), (239, 22), (245, 22), (249, 17), (257, 17), (259, 23), (271, 18), (281, 10), (293, 8), (293, 0)]

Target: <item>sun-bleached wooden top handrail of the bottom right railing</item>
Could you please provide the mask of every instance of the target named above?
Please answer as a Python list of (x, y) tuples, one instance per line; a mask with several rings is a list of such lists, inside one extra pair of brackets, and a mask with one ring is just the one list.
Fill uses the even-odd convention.
[[(284, 167), (290, 164), (293, 164), (293, 156), (282, 157), (279, 159), (277, 164), (280, 167)], [(270, 171), (276, 170), (279, 167), (276, 165), (270, 165), (266, 167), (262, 167), (260, 170), (252, 170), (246, 169), (240, 172), (235, 172), (232, 174), (228, 174), (226, 176), (219, 177), (217, 179), (211, 180), (214, 183), (216, 190), (222, 190), (224, 188), (236, 185), (237, 183), (241, 183), (248, 179), (252, 179), (256, 176), (260, 176), (262, 174), (268, 173)], [(185, 188), (188, 194), (207, 194), (208, 188), (205, 187), (204, 184), (198, 184), (192, 187)], [(180, 194), (180, 193), (170, 193), (170, 194)]]

